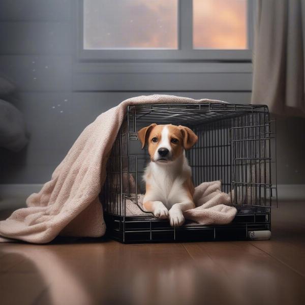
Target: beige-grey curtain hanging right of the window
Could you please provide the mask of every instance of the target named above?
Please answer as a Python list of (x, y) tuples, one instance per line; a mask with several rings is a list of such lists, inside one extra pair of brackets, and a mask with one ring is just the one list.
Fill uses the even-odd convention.
[(258, 0), (252, 104), (305, 116), (305, 0)]

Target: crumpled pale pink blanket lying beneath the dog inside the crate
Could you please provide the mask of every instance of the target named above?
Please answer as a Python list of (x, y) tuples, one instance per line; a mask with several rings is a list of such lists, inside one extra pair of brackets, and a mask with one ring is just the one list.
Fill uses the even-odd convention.
[[(143, 195), (138, 195), (137, 204), (143, 208)], [(232, 201), (234, 194), (232, 193)], [(196, 207), (184, 212), (186, 219), (202, 225), (224, 225), (230, 223), (235, 215), (236, 208), (231, 204), (231, 194), (221, 191), (221, 181), (203, 182), (195, 188), (194, 202)], [(135, 200), (126, 200), (126, 216), (147, 216), (142, 212)], [(148, 214), (151, 215), (151, 214)]]

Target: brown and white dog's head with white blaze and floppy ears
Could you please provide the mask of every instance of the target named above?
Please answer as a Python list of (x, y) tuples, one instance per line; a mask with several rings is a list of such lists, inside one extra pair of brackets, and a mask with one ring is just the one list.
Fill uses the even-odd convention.
[(151, 161), (158, 163), (176, 160), (184, 149), (190, 149), (198, 140), (190, 128), (171, 124), (151, 124), (139, 130), (138, 137), (142, 149), (147, 143)]

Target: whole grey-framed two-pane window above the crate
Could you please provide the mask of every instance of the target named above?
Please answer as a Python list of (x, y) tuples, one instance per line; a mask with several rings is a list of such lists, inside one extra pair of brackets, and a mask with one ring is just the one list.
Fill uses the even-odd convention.
[(81, 59), (251, 60), (251, 0), (83, 0)]

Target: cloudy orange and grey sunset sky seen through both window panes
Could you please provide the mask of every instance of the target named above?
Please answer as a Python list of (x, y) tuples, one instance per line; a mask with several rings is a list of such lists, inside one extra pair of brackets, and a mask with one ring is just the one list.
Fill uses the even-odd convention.
[[(177, 49), (177, 0), (85, 0), (84, 48)], [(247, 48), (246, 0), (193, 0), (194, 48)]]

